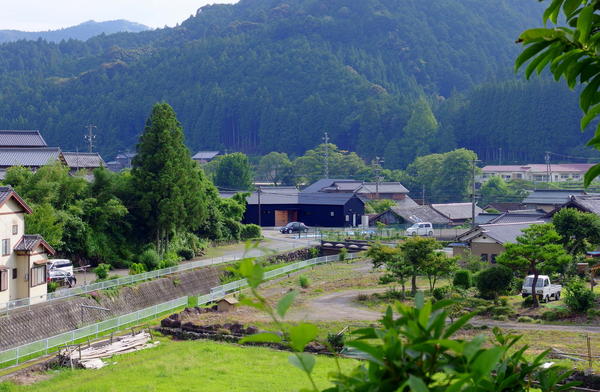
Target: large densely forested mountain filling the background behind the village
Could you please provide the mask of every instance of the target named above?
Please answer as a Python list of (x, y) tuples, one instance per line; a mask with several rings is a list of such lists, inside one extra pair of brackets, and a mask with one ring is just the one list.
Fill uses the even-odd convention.
[[(573, 94), (512, 71), (515, 38), (540, 13), (533, 0), (241, 0), (175, 28), (7, 43), (0, 128), (41, 129), (74, 148), (91, 122), (110, 157), (167, 101), (192, 150), (297, 155), (328, 131), (365, 158), (402, 155), (389, 167), (463, 145), (533, 159), (547, 147), (532, 131), (561, 151), (585, 140)], [(548, 99), (573, 110), (561, 116)]]

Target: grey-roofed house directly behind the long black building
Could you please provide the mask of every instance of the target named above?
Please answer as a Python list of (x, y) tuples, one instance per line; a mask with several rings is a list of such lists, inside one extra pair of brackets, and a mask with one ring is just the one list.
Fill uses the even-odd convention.
[[(356, 193), (365, 199), (405, 200), (408, 189), (399, 182), (363, 182), (358, 180), (319, 180), (305, 189), (304, 193)], [(412, 201), (412, 199), (410, 199)], [(414, 203), (416, 204), (416, 203)]]

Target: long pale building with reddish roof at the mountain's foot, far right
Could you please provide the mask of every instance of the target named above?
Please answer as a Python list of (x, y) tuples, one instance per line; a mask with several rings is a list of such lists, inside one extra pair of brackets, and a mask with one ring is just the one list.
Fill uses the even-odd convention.
[(476, 181), (484, 183), (492, 177), (532, 182), (581, 181), (592, 166), (594, 166), (593, 163), (488, 165), (481, 169), (481, 174)]

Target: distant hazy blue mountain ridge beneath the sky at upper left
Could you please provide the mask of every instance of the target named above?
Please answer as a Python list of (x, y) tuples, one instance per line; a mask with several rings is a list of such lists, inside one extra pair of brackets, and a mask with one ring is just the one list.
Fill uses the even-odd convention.
[(96, 22), (89, 20), (80, 23), (77, 26), (66, 27), (59, 30), (49, 31), (19, 31), (19, 30), (0, 30), (0, 43), (18, 41), (22, 39), (37, 40), (43, 39), (51, 42), (60, 42), (68, 39), (78, 39), (85, 41), (100, 34), (113, 34), (120, 32), (137, 33), (148, 30), (148, 26), (130, 22), (128, 20), (109, 20), (105, 22)]

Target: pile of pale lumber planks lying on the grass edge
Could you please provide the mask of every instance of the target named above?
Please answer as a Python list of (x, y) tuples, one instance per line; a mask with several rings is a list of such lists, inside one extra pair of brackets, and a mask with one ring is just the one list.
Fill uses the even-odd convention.
[(150, 343), (150, 340), (150, 334), (142, 331), (91, 345), (67, 346), (59, 351), (58, 361), (62, 366), (99, 369), (104, 366), (103, 358), (142, 350), (158, 343)]

